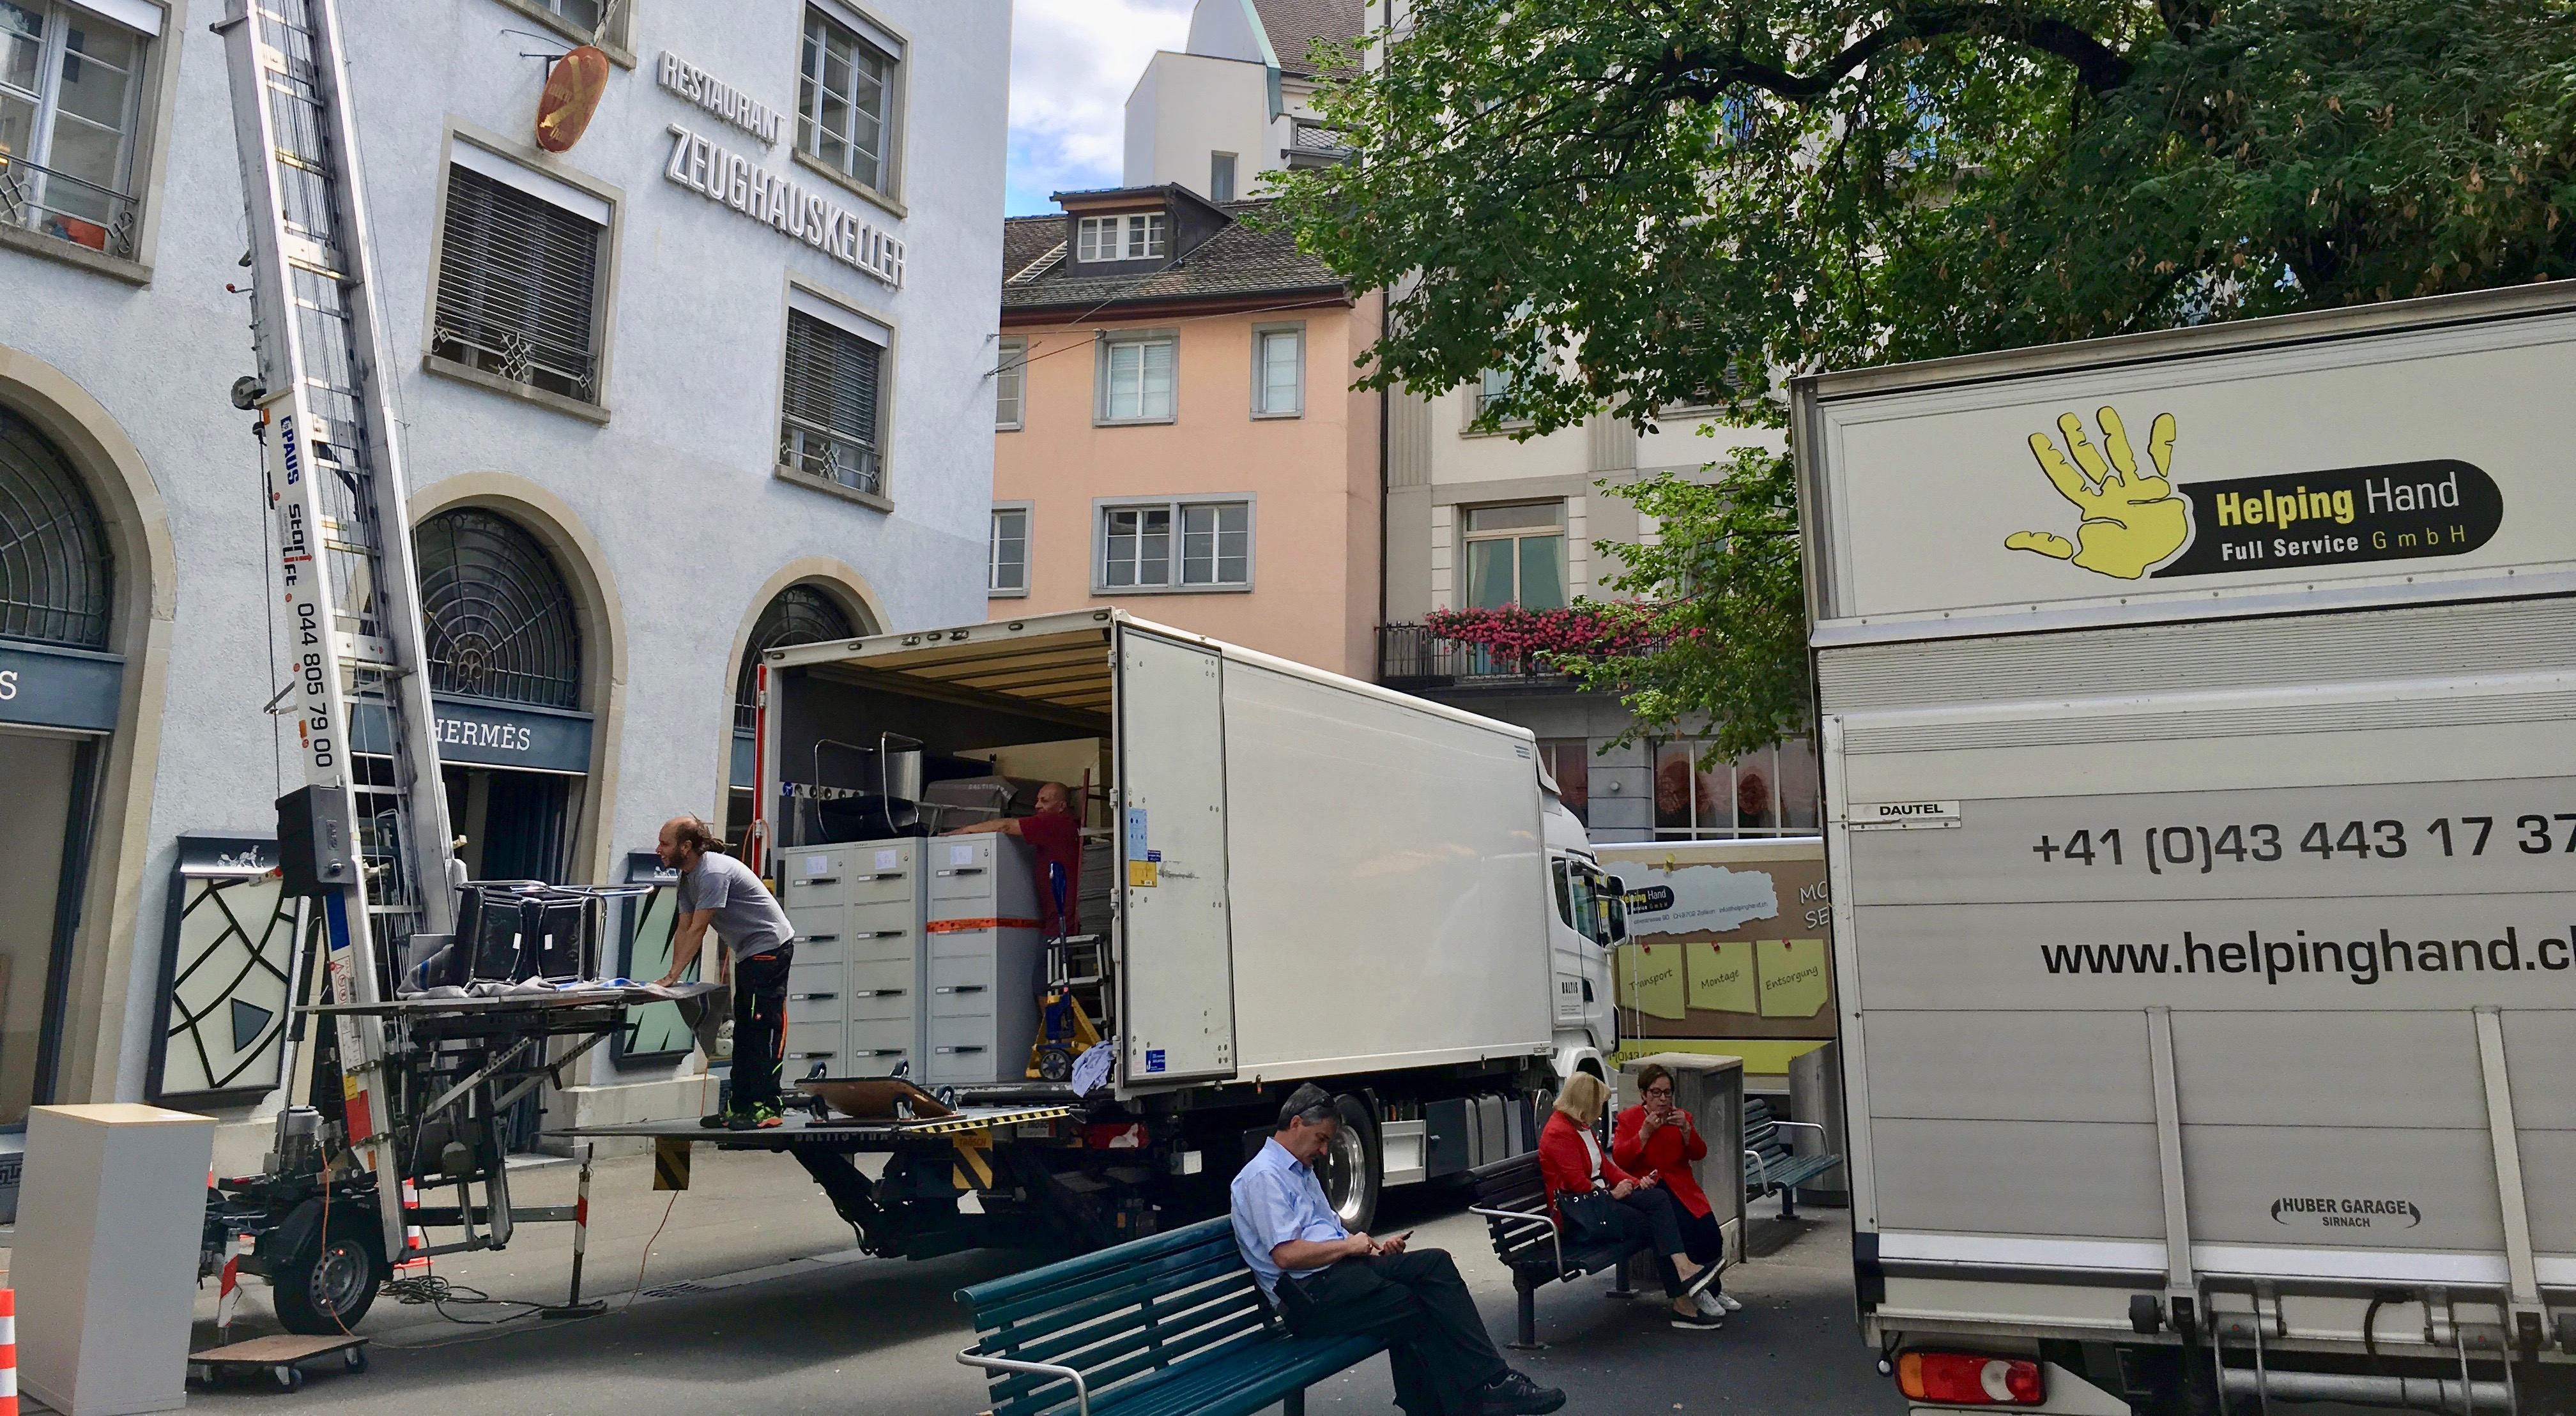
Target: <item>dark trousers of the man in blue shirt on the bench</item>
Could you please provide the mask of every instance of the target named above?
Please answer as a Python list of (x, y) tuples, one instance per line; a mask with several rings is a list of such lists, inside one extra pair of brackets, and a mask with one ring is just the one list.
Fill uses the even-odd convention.
[(1280, 1316), (1298, 1336), (1386, 1339), (1396, 1406), (1409, 1416), (1473, 1416), (1476, 1388), (1510, 1370), (1440, 1249), (1363, 1254), (1306, 1280), (1283, 1277)]

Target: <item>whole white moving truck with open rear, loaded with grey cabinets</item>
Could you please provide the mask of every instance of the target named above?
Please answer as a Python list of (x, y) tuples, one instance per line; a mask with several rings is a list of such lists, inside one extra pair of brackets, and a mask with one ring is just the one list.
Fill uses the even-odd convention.
[[(1025, 862), (994, 855), (997, 837), (873, 842), (902, 816), (886, 798), (914, 790), (899, 785), (914, 767), (933, 780), (958, 765), (1066, 780), (1105, 826), (1087, 844), (1087, 868), (1108, 868), (1105, 901), (1079, 922), (1090, 942), (1066, 953), (1113, 1048), (1097, 1089), (1077, 1097), (1028, 1076), (1015, 1061), (1030, 1048), (1025, 1022), (1018, 1035), (987, 1027), (999, 1066), (953, 1089), (940, 1058), (902, 1056), (902, 1009), (878, 1009), (894, 1022), (845, 1012), (840, 1038), (868, 1045), (832, 1058), (793, 1053), (801, 1038), (832, 1038), (835, 1022), (791, 1022), (788, 1079), (817, 1063), (886, 1076), (909, 1061), (907, 1076), (966, 1107), (1077, 1107), (994, 1130), (974, 1166), (945, 1138), (858, 1146), (894, 1151), (873, 1182), (832, 1153), (829, 1133), (752, 1138), (793, 1148), (878, 1251), (1030, 1231), (1097, 1241), (1167, 1210), (1216, 1213), (1247, 1138), (1270, 1133), (1301, 1081), (1342, 1099), (1342, 1141), (1321, 1169), (1363, 1228), (1383, 1187), (1533, 1148), (1540, 1099), (1577, 1068), (1605, 1071), (1620, 891), (1556, 801), (1528, 729), (1123, 610), (773, 649), (762, 669), (752, 857), (783, 878), (801, 932), (829, 919), (801, 906), (822, 899), (801, 888), (809, 873), (845, 888), (848, 870), (884, 875), (878, 852), (891, 873), (907, 860), (938, 868), (948, 842), (984, 844), (958, 870)], [(917, 790), (938, 796), (935, 783)], [(840, 842), (871, 844), (829, 850)], [(927, 917), (935, 932), (938, 899)], [(873, 914), (860, 924), (884, 935)], [(935, 989), (943, 971), (963, 971), (943, 963), (961, 950), (961, 935), (927, 947), (920, 978)], [(866, 978), (845, 986), (902, 986), (878, 953), (850, 955)], [(817, 973), (824, 958), (799, 945), (793, 986), (806, 996), (832, 989)], [(974, 981), (1002, 994), (1023, 986), (1015, 976), (1025, 963)], [(933, 1025), (909, 1035), (943, 1035), (938, 1020), (956, 1022), (966, 1004), (940, 994), (927, 1009)]]

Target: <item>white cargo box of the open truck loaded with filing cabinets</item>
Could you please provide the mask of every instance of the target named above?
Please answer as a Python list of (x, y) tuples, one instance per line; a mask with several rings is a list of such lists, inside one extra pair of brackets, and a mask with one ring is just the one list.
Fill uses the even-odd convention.
[(1115, 862), (1110, 919), (1084, 919), (1108, 942), (1090, 1007), (1121, 1097), (1553, 1048), (1528, 729), (1121, 610), (765, 669), (765, 852), (832, 839), (835, 803), (881, 790), (886, 734), (1087, 778), (1069, 785)]

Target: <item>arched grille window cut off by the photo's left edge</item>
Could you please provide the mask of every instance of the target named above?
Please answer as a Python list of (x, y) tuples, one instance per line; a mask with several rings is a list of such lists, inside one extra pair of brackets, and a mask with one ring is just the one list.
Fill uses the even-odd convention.
[(80, 474), (36, 425), (0, 409), (0, 638), (106, 649), (113, 584)]

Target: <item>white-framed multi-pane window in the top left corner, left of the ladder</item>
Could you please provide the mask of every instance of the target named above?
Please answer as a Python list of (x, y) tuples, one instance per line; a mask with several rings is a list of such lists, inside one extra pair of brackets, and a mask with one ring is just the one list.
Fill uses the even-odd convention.
[[(67, 221), (98, 227), (100, 245), (90, 247), (67, 234), (52, 234), (44, 232), (41, 227), (23, 221), (8, 221), (8, 229), (13, 234), (23, 232), (26, 237), (31, 237), (36, 242), (33, 250), (44, 250), (46, 255), (64, 255), (70, 260), (98, 257), (126, 265), (144, 265), (144, 257), (149, 255), (144, 239), (147, 237), (144, 185), (155, 167), (152, 162), (155, 144), (149, 142), (149, 136), (157, 136), (147, 134), (144, 129), (157, 126), (155, 111), (160, 108), (157, 98), (162, 85), (165, 49), (167, 49), (167, 39), (162, 36), (162, 28), (167, 28), (162, 23), (162, 13), (160, 8), (144, 5), (139, 0), (93, 0), (93, 3), (15, 0), (15, 3), (26, 10), (36, 10), (39, 23), (44, 26), (44, 36), (39, 39), (36, 49), (36, 88), (33, 90), (23, 90), (15, 85), (5, 88), (5, 93), (18, 103), (33, 106), (33, 113), (31, 113), (28, 149), (10, 154), (10, 165), (15, 167), (15, 172), (8, 172), (8, 178), (0, 180), (13, 180), (28, 193), (28, 216), (36, 216), (39, 211), (57, 211)], [(126, 111), (118, 116), (118, 129), (113, 129), (118, 139), (113, 185), (90, 183), (88, 178), (75, 178), (70, 172), (62, 172), (59, 162), (54, 160), (54, 136), (59, 124), (64, 121), (62, 64), (75, 15), (82, 23), (108, 23), (134, 36), (134, 67), (126, 70)], [(88, 62), (108, 67), (98, 59)], [(70, 121), (93, 129), (100, 126), (80, 113), (70, 113)], [(88, 216), (62, 211), (52, 203), (36, 206), (36, 201), (54, 196), (49, 193), (49, 188), (57, 180), (67, 183), (70, 188), (90, 188), (108, 193), (111, 209), (113, 203), (121, 201), (126, 206), (121, 224), (116, 216), (111, 216), (108, 221), (90, 221)], [(118, 252), (116, 250), (118, 245), (124, 245), (126, 250)], [(49, 250), (49, 247), (62, 247), (62, 250)]]

